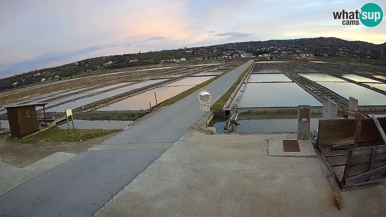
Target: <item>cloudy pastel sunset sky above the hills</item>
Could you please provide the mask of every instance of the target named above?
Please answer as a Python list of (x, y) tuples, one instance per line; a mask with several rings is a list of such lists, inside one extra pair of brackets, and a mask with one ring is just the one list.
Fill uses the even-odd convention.
[[(372, 1), (385, 12), (386, 2)], [(376, 27), (344, 26), (333, 11), (358, 0), (0, 1), (0, 78), (114, 54), (309, 37), (386, 42)]]

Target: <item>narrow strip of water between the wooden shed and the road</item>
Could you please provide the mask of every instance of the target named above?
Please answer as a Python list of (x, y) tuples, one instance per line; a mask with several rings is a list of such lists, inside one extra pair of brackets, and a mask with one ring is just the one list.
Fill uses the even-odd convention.
[[(129, 124), (132, 120), (74, 120), (75, 129), (123, 129)], [(71, 121), (69, 122), (70, 129), (72, 128)], [(67, 122), (58, 126), (60, 129), (68, 129)]]

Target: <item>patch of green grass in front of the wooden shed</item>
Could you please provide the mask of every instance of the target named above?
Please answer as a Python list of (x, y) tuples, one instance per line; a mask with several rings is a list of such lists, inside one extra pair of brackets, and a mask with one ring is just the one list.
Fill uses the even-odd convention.
[(10, 142), (17, 142), (23, 144), (31, 144), (39, 141), (57, 141), (57, 142), (79, 142), (80, 140), (85, 141), (88, 139), (94, 139), (97, 137), (105, 136), (110, 133), (119, 132), (120, 129), (75, 129), (68, 133), (68, 129), (60, 129), (59, 127), (51, 127), (50, 129), (40, 132), (39, 134), (26, 137), (24, 139), (18, 139), (15, 137), (8, 138)]

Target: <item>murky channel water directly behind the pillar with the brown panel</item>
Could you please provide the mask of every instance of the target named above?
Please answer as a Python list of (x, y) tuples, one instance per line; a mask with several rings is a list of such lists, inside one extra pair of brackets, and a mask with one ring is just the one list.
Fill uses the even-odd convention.
[[(318, 118), (311, 119), (311, 129), (318, 129)], [(255, 133), (255, 132), (297, 132), (298, 119), (260, 119), (260, 120), (239, 120), (237, 132)], [(216, 132), (221, 133), (224, 130), (225, 121), (215, 120), (213, 127)]]

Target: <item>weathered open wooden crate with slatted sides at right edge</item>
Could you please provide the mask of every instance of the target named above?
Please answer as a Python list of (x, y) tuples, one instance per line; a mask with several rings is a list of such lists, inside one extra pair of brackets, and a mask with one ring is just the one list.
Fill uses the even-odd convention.
[[(385, 131), (386, 118), (378, 121)], [(319, 120), (317, 147), (342, 191), (386, 184), (386, 145), (373, 119), (362, 119), (357, 148), (331, 149), (334, 145), (354, 142), (356, 122), (356, 119)]]

